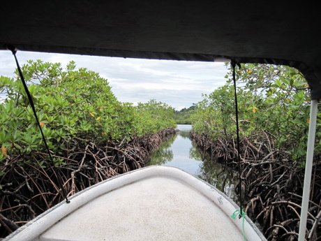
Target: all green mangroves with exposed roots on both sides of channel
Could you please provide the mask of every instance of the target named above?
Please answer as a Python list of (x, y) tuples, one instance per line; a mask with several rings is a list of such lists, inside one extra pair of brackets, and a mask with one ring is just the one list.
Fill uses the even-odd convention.
[[(63, 68), (29, 61), (22, 71), (54, 165), (20, 76), (1, 76), (0, 92), (8, 92), (0, 104), (2, 237), (63, 199), (57, 175), (70, 196), (140, 168), (151, 150), (175, 133), (176, 124), (192, 123), (191, 137), (197, 146), (215, 160), (237, 166), (231, 73), (226, 85), (205, 94), (203, 101), (175, 111), (154, 99), (137, 106), (121, 103), (106, 79), (76, 68), (74, 62)], [(301, 73), (287, 66), (244, 64), (236, 77), (242, 169), (239, 191), (246, 194), (246, 213), (260, 221), (269, 240), (295, 240), (309, 124), (308, 85)], [(320, 127), (318, 118), (308, 217), (310, 240), (314, 241), (321, 237)]]

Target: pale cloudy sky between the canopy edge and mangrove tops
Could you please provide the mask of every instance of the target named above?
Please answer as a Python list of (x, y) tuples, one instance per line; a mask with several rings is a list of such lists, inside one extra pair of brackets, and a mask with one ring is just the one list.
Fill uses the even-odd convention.
[[(175, 110), (188, 108), (225, 84), (224, 63), (165, 61), (91, 57), (72, 54), (17, 52), (20, 66), (29, 59), (59, 62), (66, 66), (75, 61), (77, 67), (98, 72), (107, 78), (119, 101), (146, 103), (152, 98), (171, 105)], [(15, 60), (10, 51), (0, 51), (0, 75), (13, 77)]]

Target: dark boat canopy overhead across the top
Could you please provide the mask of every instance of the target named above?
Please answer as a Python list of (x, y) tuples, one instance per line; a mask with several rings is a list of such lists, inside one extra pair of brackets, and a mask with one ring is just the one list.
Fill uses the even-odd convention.
[(287, 1), (3, 1), (0, 50), (297, 68), (321, 98), (320, 10)]

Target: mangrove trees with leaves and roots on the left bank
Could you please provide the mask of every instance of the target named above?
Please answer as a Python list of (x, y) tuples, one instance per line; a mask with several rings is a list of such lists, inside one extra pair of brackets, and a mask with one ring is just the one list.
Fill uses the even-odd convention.
[[(22, 66), (54, 165), (29, 100), (17, 78), (1, 76), (1, 236), (68, 196), (108, 177), (144, 166), (151, 149), (175, 133), (174, 109), (165, 103), (121, 103), (108, 81), (71, 61), (29, 61)], [(52, 166), (56, 167), (56, 173)]]

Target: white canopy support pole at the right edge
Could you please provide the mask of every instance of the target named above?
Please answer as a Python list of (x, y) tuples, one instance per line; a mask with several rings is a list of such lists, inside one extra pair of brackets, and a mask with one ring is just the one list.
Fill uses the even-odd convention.
[(318, 100), (311, 101), (310, 124), (308, 127), (308, 148), (306, 149), (306, 170), (304, 173), (304, 188), (302, 193), (301, 220), (299, 227), (299, 241), (305, 240), (306, 220), (308, 217), (308, 203), (310, 199), (313, 151), (315, 145), (315, 130), (317, 124)]

